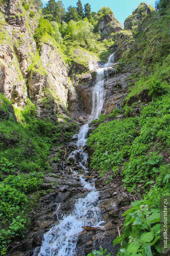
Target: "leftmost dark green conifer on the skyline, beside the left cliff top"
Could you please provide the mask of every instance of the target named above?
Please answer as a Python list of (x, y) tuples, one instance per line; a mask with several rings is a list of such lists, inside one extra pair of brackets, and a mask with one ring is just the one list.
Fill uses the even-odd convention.
[(52, 15), (54, 20), (59, 22), (59, 7), (55, 0), (48, 0), (46, 7), (42, 9), (43, 15)]

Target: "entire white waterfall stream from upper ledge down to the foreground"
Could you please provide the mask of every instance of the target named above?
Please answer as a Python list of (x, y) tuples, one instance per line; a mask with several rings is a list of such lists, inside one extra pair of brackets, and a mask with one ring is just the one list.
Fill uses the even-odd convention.
[[(89, 122), (98, 119), (103, 107), (103, 92), (105, 73), (107, 68), (114, 63), (114, 53), (110, 55), (104, 67), (96, 70), (96, 83), (92, 93), (92, 111)], [(88, 154), (84, 152), (87, 141), (88, 124), (81, 127), (78, 134), (77, 150), (71, 152), (68, 158), (78, 159), (79, 165), (87, 172)], [(76, 256), (76, 246), (79, 233), (83, 226), (100, 226), (101, 215), (98, 205), (99, 192), (94, 183), (85, 181), (80, 175), (82, 186), (88, 189), (85, 198), (79, 198), (74, 205), (74, 210), (44, 234), (40, 253), (38, 256)]]

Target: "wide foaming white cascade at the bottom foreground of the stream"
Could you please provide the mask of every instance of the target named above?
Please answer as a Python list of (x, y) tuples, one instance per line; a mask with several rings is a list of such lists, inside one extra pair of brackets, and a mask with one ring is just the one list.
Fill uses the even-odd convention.
[(85, 198), (80, 198), (74, 206), (74, 211), (44, 235), (39, 255), (76, 255), (78, 234), (83, 230), (82, 227), (99, 224), (100, 211), (96, 206), (98, 196), (99, 193), (92, 189)]

